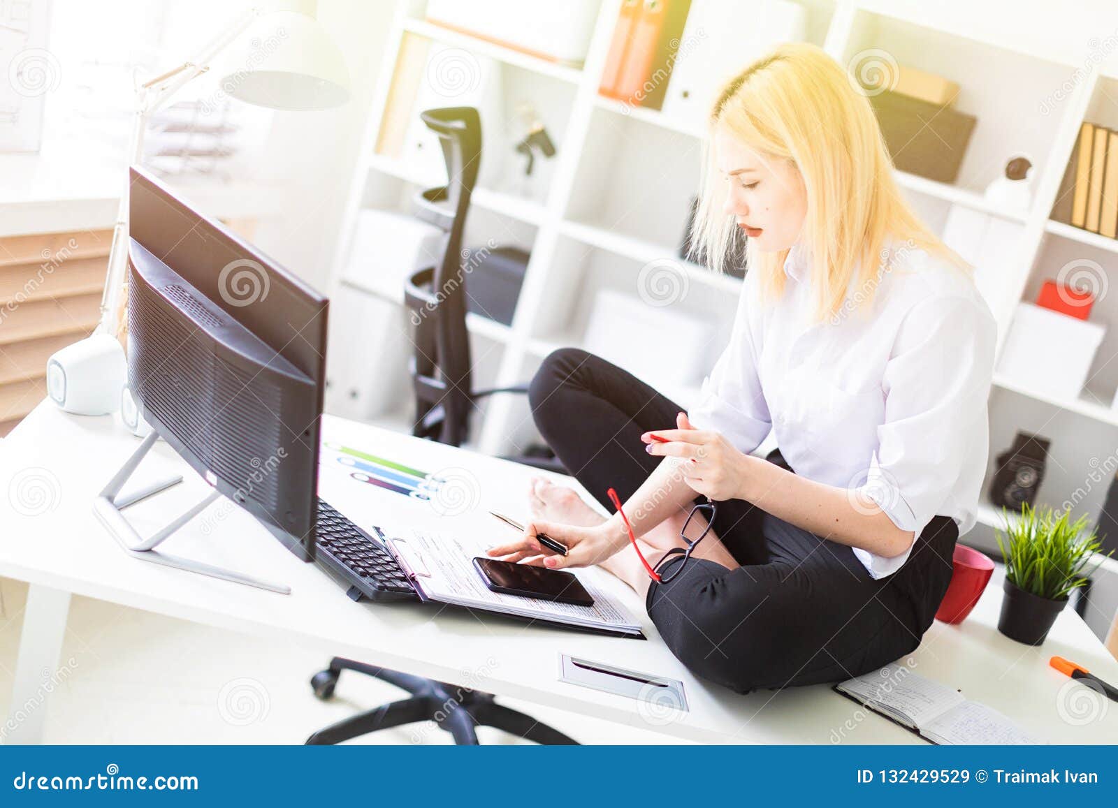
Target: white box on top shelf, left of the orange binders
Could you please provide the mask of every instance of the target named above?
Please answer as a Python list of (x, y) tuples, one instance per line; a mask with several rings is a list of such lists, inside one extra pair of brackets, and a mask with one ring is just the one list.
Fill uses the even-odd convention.
[(427, 19), (524, 54), (581, 65), (599, 6), (598, 0), (427, 0)]

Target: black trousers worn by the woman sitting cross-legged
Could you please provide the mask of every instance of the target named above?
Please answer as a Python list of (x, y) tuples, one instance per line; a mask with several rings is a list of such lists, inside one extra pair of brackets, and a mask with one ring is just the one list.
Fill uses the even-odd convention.
[[(681, 410), (572, 348), (544, 360), (529, 400), (556, 455), (610, 512), (606, 489), (625, 501), (661, 462), (641, 434), (674, 428)], [(947, 591), (958, 539), (955, 521), (937, 516), (904, 565), (874, 580), (851, 548), (742, 500), (718, 503), (713, 527), (741, 565), (692, 559), (670, 582), (653, 582), (645, 605), (688, 668), (740, 693), (839, 682), (912, 652)], [(661, 571), (676, 563), (669, 558)]]

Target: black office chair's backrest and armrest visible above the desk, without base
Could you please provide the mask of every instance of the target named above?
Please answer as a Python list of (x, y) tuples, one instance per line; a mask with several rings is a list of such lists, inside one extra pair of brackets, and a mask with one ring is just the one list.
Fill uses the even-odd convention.
[[(461, 446), (470, 415), (477, 401), (499, 392), (527, 393), (528, 387), (474, 390), (471, 383), (470, 333), (466, 329), (467, 275), (462, 234), (470, 197), (477, 181), (482, 153), (482, 124), (471, 106), (427, 110), (420, 118), (438, 135), (446, 162), (447, 184), (416, 194), (416, 217), (446, 234), (442, 258), (415, 273), (404, 291), (415, 324), (411, 380), (416, 396), (413, 435)], [(566, 474), (553, 457), (518, 455), (506, 459)]]

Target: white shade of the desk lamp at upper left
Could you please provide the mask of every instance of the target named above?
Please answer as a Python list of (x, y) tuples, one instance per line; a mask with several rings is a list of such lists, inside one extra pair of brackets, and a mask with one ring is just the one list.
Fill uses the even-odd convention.
[(234, 98), (273, 110), (328, 110), (349, 99), (345, 60), (313, 17), (264, 13), (239, 41), (244, 58), (221, 78)]

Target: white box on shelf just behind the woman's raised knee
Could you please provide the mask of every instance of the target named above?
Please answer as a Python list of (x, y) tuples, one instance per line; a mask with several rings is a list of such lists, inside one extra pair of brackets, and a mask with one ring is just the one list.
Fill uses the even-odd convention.
[(702, 379), (709, 369), (701, 359), (714, 353), (712, 336), (713, 326), (694, 315), (601, 289), (595, 297), (582, 346), (664, 392)]

